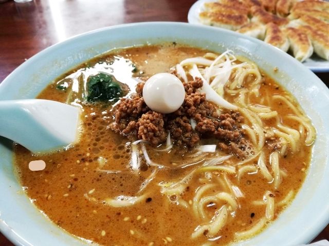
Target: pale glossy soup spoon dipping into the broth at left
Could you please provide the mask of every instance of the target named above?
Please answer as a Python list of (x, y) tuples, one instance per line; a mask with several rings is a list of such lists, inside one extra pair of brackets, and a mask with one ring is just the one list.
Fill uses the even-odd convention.
[(0, 136), (38, 153), (78, 138), (78, 108), (44, 99), (0, 101)]

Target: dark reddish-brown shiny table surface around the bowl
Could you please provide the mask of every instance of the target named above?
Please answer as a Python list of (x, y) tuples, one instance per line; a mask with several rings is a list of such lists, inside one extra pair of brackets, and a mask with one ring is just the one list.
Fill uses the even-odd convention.
[[(0, 82), (25, 59), (71, 36), (122, 23), (187, 22), (193, 0), (34, 0), (0, 4)], [(329, 73), (317, 73), (329, 86)], [(302, 232), (301, 232), (302, 233)], [(314, 241), (329, 240), (327, 226)], [(0, 233), (0, 245), (12, 246)]]

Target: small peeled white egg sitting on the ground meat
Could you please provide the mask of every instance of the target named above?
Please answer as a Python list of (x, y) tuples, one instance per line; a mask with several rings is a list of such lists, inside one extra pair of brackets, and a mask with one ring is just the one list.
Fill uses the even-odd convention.
[(158, 113), (169, 114), (182, 105), (184, 86), (175, 75), (157, 73), (150, 77), (143, 88), (145, 104)]

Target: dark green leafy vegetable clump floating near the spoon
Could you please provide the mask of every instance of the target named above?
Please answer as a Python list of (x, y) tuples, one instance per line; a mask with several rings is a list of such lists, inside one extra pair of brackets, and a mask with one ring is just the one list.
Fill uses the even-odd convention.
[(122, 96), (120, 84), (113, 75), (99, 73), (87, 83), (88, 101), (117, 101)]

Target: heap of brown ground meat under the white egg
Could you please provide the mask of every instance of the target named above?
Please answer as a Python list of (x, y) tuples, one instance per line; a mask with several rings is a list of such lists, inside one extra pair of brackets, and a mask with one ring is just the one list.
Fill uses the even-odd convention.
[[(182, 84), (186, 92), (184, 103), (171, 114), (161, 114), (145, 105), (142, 97), (144, 83), (139, 83), (136, 94), (122, 98), (113, 110), (115, 120), (110, 128), (125, 136), (148, 140), (153, 146), (165, 142), (168, 133), (175, 145), (188, 148), (197, 146), (202, 138), (215, 138), (221, 150), (245, 158), (251, 144), (243, 137), (240, 113), (218, 113), (218, 108), (198, 91), (203, 86), (202, 79)], [(195, 121), (194, 129), (191, 120)]]

